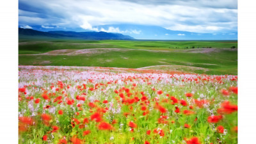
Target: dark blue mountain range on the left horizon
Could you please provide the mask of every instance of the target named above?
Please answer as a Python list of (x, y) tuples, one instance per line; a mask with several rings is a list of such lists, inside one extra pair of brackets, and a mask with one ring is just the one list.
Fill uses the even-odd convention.
[(36, 31), (34, 29), (19, 28), (20, 38), (70, 38), (70, 39), (83, 39), (83, 40), (132, 40), (131, 36), (122, 35), (120, 33), (107, 33), (104, 31), (86, 31), (86, 32), (75, 32), (75, 31)]

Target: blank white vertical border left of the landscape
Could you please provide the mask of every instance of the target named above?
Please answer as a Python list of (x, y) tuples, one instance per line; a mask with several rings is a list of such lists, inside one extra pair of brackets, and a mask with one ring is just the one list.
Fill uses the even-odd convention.
[(0, 1), (0, 143), (19, 143), (18, 10), (18, 1)]

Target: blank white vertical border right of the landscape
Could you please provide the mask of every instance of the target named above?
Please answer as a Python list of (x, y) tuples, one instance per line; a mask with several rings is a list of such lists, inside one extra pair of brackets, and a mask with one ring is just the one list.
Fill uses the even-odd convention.
[(255, 1), (238, 1), (238, 143), (255, 143)]

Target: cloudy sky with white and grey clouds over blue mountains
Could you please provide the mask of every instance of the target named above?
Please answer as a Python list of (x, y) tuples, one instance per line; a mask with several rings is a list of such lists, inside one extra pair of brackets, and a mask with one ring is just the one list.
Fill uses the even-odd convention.
[[(97, 26), (111, 25), (109, 28)], [(140, 35), (116, 24), (159, 26), (192, 33), (235, 33), (236, 0), (19, 0), (19, 27)], [(180, 33), (182, 36), (182, 33)]]

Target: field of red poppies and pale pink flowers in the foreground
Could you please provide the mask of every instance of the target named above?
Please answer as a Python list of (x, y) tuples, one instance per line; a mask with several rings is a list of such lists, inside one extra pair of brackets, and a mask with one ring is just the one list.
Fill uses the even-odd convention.
[(237, 76), (20, 65), (19, 143), (237, 143)]

